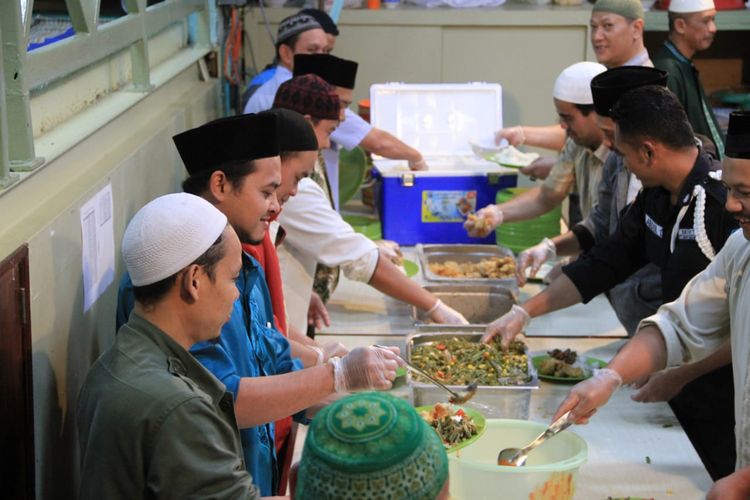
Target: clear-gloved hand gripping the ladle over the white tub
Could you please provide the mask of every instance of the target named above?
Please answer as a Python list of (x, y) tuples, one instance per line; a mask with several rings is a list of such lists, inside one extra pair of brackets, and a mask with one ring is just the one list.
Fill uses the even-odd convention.
[(570, 410), (575, 423), (588, 423), (596, 410), (609, 401), (621, 385), (622, 377), (611, 368), (594, 370), (591, 378), (579, 382), (570, 390), (568, 397), (557, 408), (554, 419)]

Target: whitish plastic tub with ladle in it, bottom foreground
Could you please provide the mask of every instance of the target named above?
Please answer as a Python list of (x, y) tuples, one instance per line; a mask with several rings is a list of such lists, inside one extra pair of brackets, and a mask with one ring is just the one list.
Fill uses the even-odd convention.
[(571, 500), (575, 494), (578, 468), (586, 463), (588, 447), (583, 439), (569, 430), (534, 449), (523, 467), (497, 465), (500, 450), (527, 445), (546, 429), (547, 424), (487, 420), (486, 430), (479, 439), (448, 455), (451, 498)]

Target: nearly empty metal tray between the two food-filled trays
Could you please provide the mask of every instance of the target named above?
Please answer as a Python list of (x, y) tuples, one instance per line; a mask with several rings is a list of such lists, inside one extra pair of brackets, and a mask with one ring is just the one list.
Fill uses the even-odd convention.
[[(471, 326), (484, 328), (518, 304), (515, 289), (487, 284), (425, 285), (424, 289), (464, 315)], [(461, 325), (430, 323), (424, 311), (412, 307), (414, 324), (420, 331), (453, 331)]]

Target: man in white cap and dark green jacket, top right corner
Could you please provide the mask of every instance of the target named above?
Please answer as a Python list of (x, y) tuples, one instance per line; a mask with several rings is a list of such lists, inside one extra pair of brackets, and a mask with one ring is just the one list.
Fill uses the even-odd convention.
[(716, 37), (713, 0), (671, 0), (669, 35), (654, 55), (654, 66), (669, 74), (667, 88), (675, 93), (697, 134), (710, 138), (719, 155), (724, 152), (724, 134), (706, 99), (698, 69), (692, 59), (707, 50)]

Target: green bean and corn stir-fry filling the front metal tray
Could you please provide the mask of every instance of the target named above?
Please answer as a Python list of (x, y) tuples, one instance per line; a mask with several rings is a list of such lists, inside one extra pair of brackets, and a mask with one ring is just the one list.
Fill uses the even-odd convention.
[[(496, 367), (489, 360), (494, 361)], [(417, 345), (411, 362), (448, 385), (519, 385), (531, 380), (526, 345), (514, 341), (507, 351), (499, 339), (490, 344), (459, 337)], [(499, 373), (498, 373), (499, 371)]]

